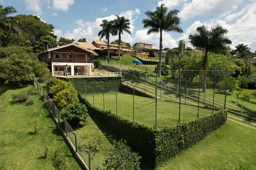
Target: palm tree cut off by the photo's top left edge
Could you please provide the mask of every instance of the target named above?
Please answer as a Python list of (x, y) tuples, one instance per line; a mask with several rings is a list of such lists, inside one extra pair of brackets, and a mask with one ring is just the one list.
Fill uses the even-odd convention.
[(18, 21), (13, 17), (8, 17), (8, 15), (16, 13), (17, 10), (12, 6), (4, 7), (0, 4), (0, 49), (2, 47), (1, 36), (3, 32), (7, 32), (11, 34), (11, 32), (19, 33), (19, 29), (17, 27)]

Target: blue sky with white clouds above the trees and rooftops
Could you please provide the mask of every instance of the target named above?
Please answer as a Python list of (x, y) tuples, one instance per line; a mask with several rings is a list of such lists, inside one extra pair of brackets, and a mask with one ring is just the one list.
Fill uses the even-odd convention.
[[(13, 6), (17, 14), (35, 14), (41, 20), (52, 24), (54, 33), (69, 39), (87, 38), (88, 42), (99, 40), (102, 19), (113, 20), (116, 15), (130, 19), (131, 35), (124, 33), (122, 41), (147, 42), (159, 48), (159, 34), (147, 36), (142, 20), (145, 11), (154, 11), (156, 5), (164, 3), (168, 10), (178, 9), (181, 28), (184, 33), (163, 34), (163, 47), (173, 48), (178, 40), (185, 40), (189, 34), (205, 24), (210, 28), (220, 24), (228, 29), (231, 48), (239, 43), (248, 44), (256, 50), (256, 0), (0, 0), (4, 6)], [(111, 37), (110, 41), (118, 39)]]

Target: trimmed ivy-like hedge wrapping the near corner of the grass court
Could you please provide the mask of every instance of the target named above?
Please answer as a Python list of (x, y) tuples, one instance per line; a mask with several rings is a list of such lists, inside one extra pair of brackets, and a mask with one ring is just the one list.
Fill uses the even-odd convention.
[(139, 152), (143, 160), (153, 167), (166, 161), (180, 151), (193, 146), (206, 135), (225, 124), (227, 111), (220, 110), (211, 115), (202, 116), (180, 124), (154, 129), (116, 116), (110, 111), (93, 107), (86, 99), (79, 96), (88, 113), (127, 144)]

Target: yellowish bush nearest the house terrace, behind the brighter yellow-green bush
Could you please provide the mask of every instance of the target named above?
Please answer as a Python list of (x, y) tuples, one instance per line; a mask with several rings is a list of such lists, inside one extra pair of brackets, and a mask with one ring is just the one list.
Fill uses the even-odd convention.
[[(56, 96), (57, 93), (59, 93), (60, 91), (62, 91), (64, 89), (73, 88), (72, 83), (66, 82), (66, 81), (63, 81), (63, 80), (62, 81), (60, 81), (60, 80), (56, 81), (56, 80), (54, 80), (54, 78), (49, 83), (51, 83), (53, 85), (56, 82), (58, 82), (58, 83), (54, 86), (51, 86), (50, 90), (49, 90), (49, 93), (52, 94), (53, 96)], [(49, 85), (51, 85), (51, 84), (49, 84)]]

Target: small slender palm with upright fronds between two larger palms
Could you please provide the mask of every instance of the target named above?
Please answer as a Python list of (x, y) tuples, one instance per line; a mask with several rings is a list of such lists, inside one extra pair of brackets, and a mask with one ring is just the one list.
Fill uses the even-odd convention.
[(179, 78), (178, 78), (178, 83), (180, 81), (180, 58), (183, 57), (185, 54), (188, 54), (189, 55), (189, 52), (185, 50), (185, 47), (186, 47), (186, 43), (185, 43), (185, 40), (180, 40), (179, 41), (179, 44), (178, 44), (178, 47), (175, 47), (175, 48), (172, 48), (172, 49), (169, 49), (167, 52), (168, 54), (169, 53), (172, 53), (173, 55), (179, 57), (179, 66), (178, 66), (178, 70), (179, 70)]

